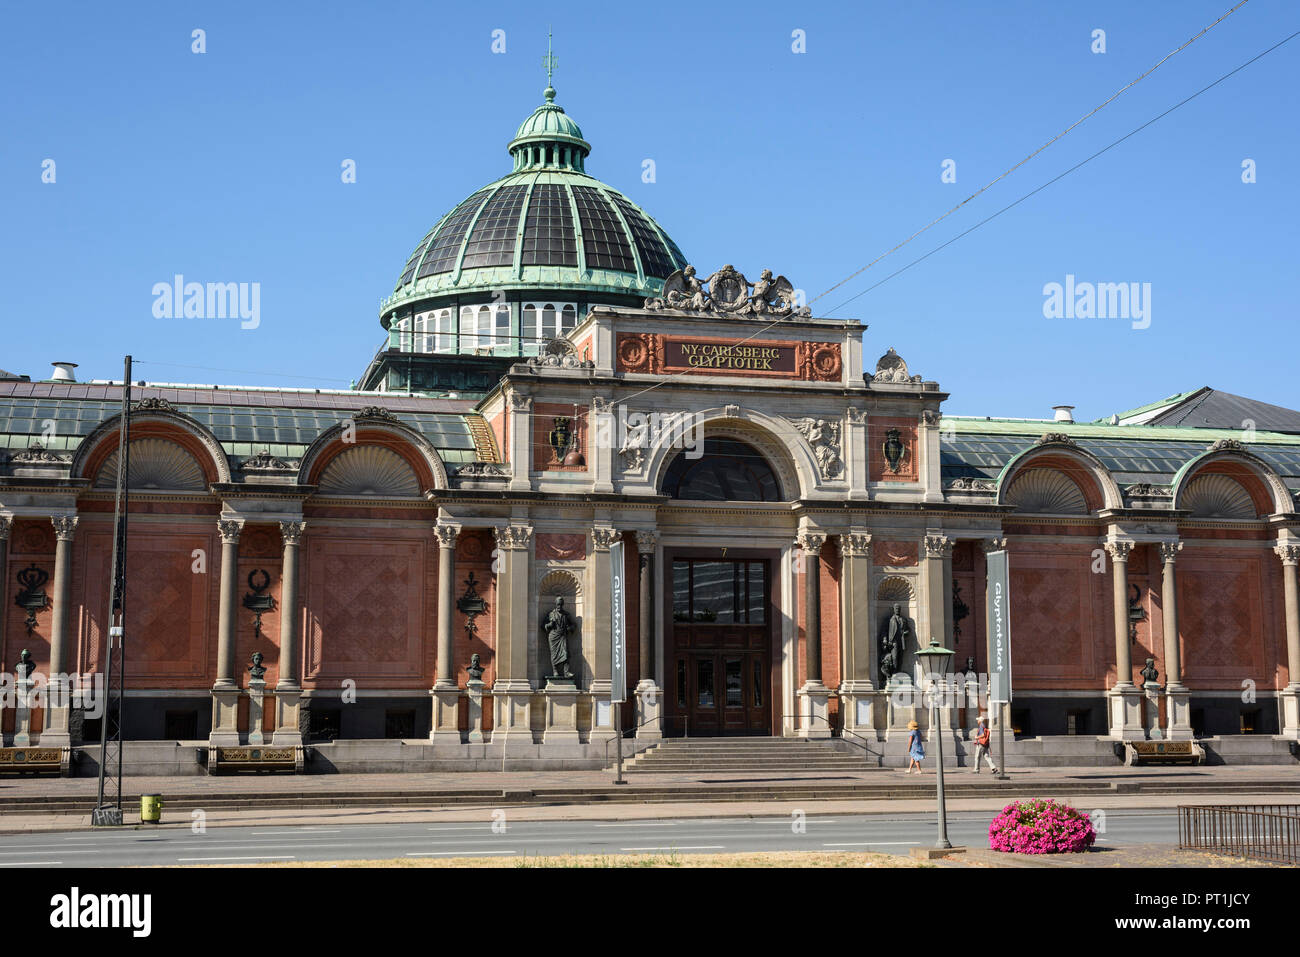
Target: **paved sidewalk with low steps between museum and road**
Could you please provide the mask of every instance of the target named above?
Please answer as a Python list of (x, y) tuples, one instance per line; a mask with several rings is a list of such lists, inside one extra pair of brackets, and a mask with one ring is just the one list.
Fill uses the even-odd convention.
[[(1282, 774), (1279, 774), (1279, 770)], [(1277, 767), (1208, 767), (1208, 768), (1030, 768), (1010, 772), (1011, 781), (994, 781), (987, 774), (959, 770), (945, 774), (949, 785), (950, 811), (1001, 810), (1018, 796), (1052, 785), (1053, 797), (1083, 810), (1098, 809), (1169, 809), (1178, 804), (1292, 804), (1300, 801), (1300, 775), (1290, 768)], [(164, 797), (162, 827), (190, 827), (194, 811), (202, 811), (208, 827), (235, 824), (335, 826), (378, 824), (403, 822), (474, 822), (490, 817), (493, 810), (507, 807), (515, 820), (637, 820), (662, 818), (745, 818), (781, 817), (794, 810), (805, 814), (900, 814), (924, 813), (935, 807), (935, 776), (918, 778), (902, 771), (871, 771), (861, 775), (835, 775), (833, 778), (790, 776), (780, 779), (762, 775), (645, 775), (654, 783), (636, 780), (627, 788), (615, 789), (612, 775), (602, 771), (521, 771), (438, 775), (329, 775), (329, 776), (224, 776), (224, 778), (127, 778), (122, 788), (124, 811), (127, 823), (135, 822), (139, 794), (160, 793)], [(861, 779), (872, 785), (880, 797), (855, 794), (845, 800), (816, 796), (831, 784), (845, 779)], [(976, 785), (953, 793), (953, 784)], [(737, 791), (770, 787), (774, 783), (807, 785), (811, 796), (798, 798), (754, 797), (753, 800), (710, 801), (705, 793), (698, 800), (664, 802), (647, 800), (637, 802), (638, 791), (708, 785), (729, 796)], [(859, 781), (861, 783), (861, 781)], [(1119, 783), (1123, 792), (1109, 789)], [(1196, 793), (1179, 796), (1169, 793), (1169, 787), (1196, 784)], [(1140, 785), (1161, 785), (1165, 793), (1144, 794)], [(820, 787), (819, 787), (820, 785)], [(919, 787), (918, 787), (919, 785)], [(1216, 788), (1221, 785), (1222, 791)], [(1252, 791), (1258, 787), (1286, 792)], [(906, 797), (889, 797), (889, 792), (910, 788)], [(1078, 787), (1072, 791), (1071, 787)], [(1131, 788), (1131, 789), (1130, 789)], [(580, 792), (589, 791), (588, 800)], [(55, 796), (75, 801), (66, 810), (13, 813), (0, 804), (0, 833), (34, 831), (66, 831), (90, 826), (90, 807), (95, 801), (94, 779), (20, 779), (0, 781), (0, 801), (26, 798), (40, 801)], [(546, 792), (560, 792), (549, 796)], [(618, 804), (599, 800), (616, 791)], [(983, 792), (983, 793), (980, 793)], [(355, 794), (347, 806), (292, 806), (292, 796)], [(511, 797), (506, 798), (510, 793)], [(533, 800), (519, 802), (523, 793)], [(429, 794), (428, 801), (421, 796)], [(459, 796), (452, 806), (437, 806), (439, 796)], [(573, 797), (576, 794), (576, 797)], [(289, 806), (239, 806), (239, 797), (286, 796)], [(78, 800), (84, 798), (84, 800)], [(204, 798), (213, 798), (213, 806), (204, 807)], [(220, 800), (218, 800), (220, 798)], [(370, 800), (373, 798), (373, 800)], [(394, 800), (410, 798), (403, 805)], [(424, 805), (424, 806), (421, 806)], [(152, 826), (151, 826), (152, 827)]]

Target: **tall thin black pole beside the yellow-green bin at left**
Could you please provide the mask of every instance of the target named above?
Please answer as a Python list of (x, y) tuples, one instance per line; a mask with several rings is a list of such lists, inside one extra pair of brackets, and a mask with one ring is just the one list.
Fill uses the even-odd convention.
[[(104, 716), (99, 726), (99, 797), (92, 824), (122, 823), (122, 705), (125, 700), (126, 648), (126, 516), (130, 505), (131, 467), (131, 356), (122, 372), (122, 413), (117, 429), (117, 490), (113, 505), (113, 563), (108, 586), (108, 641), (104, 649)], [(117, 654), (113, 654), (113, 638)], [(109, 728), (112, 726), (112, 729)], [(112, 731), (112, 733), (110, 733)], [(109, 744), (113, 755), (109, 757)], [(113, 765), (110, 770), (110, 765)], [(112, 778), (112, 783), (109, 783)]]

